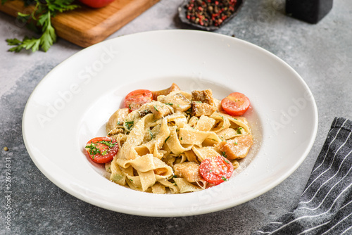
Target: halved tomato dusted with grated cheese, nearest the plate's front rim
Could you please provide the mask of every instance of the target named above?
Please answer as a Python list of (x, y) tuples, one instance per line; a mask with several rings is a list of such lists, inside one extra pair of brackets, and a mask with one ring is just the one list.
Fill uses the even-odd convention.
[(234, 166), (226, 158), (218, 155), (215, 158), (206, 158), (199, 166), (201, 176), (210, 184), (221, 184), (232, 176)]

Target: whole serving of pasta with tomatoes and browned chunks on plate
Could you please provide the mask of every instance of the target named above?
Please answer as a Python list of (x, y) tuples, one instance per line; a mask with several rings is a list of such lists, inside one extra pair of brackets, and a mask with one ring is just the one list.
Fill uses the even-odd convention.
[(122, 186), (149, 193), (207, 189), (229, 180), (253, 144), (249, 123), (236, 115), (246, 112), (249, 99), (239, 93), (225, 99), (176, 84), (132, 91), (106, 123), (107, 136), (85, 148)]

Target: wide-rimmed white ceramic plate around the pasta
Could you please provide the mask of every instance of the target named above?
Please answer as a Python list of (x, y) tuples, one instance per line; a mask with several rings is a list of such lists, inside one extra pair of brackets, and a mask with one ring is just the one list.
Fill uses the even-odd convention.
[[(106, 179), (84, 144), (134, 89), (239, 91), (256, 142), (251, 164), (205, 191), (153, 195)], [(34, 89), (23, 114), (23, 138), (33, 162), (54, 184), (101, 208), (133, 215), (184, 216), (239, 205), (277, 186), (310, 151), (318, 113), (310, 90), (287, 63), (240, 39), (211, 32), (165, 30), (108, 40), (76, 53)], [(249, 163), (249, 161), (247, 161)]]

